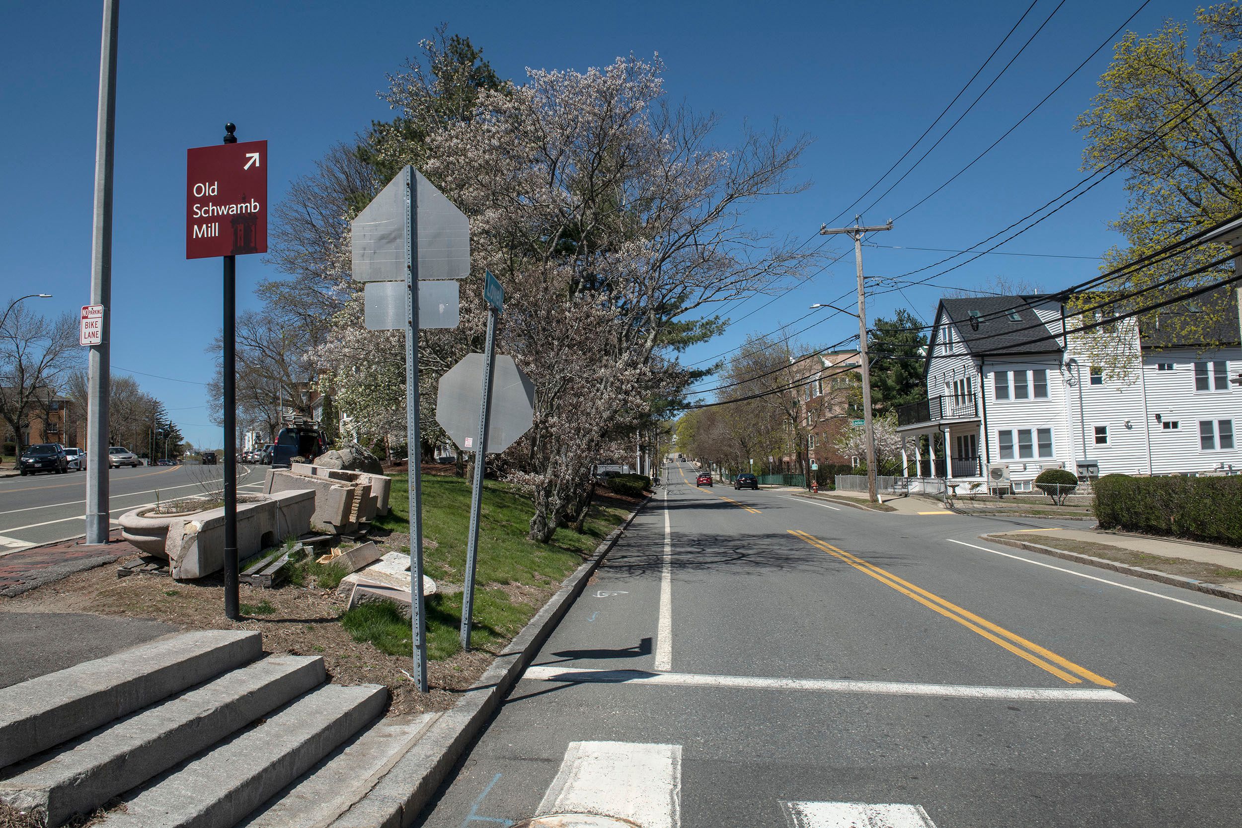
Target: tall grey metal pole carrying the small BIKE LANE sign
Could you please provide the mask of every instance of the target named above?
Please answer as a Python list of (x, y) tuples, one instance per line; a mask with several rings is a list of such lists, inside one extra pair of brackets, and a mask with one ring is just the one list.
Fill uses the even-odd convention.
[(107, 544), (108, 401), (112, 341), (112, 139), (117, 127), (117, 20), (120, 0), (103, 0), (99, 110), (94, 139), (94, 221), (91, 231), (91, 304), (103, 305), (98, 345), (87, 369), (86, 542)]

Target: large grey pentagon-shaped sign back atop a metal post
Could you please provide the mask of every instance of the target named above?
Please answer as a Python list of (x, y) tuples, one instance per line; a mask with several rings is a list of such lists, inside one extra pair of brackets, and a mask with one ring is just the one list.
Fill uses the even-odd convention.
[(410, 182), (417, 225), (417, 278), (463, 279), (469, 276), (469, 220), (421, 173), (406, 166), (350, 223), (355, 281), (405, 281), (406, 187)]

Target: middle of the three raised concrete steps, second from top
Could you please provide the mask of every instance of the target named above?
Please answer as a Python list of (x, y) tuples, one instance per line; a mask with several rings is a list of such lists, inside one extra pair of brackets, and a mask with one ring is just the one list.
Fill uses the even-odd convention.
[(0, 782), (0, 801), (60, 826), (323, 684), (323, 659), (273, 655), (61, 746)]

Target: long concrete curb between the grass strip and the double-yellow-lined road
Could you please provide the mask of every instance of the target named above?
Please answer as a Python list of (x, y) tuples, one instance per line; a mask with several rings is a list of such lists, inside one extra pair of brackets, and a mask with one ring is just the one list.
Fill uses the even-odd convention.
[(396, 765), (365, 796), (343, 813), (332, 828), (405, 828), (422, 812), (440, 783), (487, 725), (501, 701), (573, 606), (621, 535), (651, 497), (595, 549), (589, 561), (565, 580), (560, 591), (530, 619), (517, 638), (463, 694), (461, 701), (432, 722)]

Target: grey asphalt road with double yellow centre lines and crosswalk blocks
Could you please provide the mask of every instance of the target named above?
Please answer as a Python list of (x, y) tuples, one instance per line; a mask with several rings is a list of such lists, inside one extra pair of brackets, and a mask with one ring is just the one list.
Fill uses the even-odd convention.
[(420, 824), (1242, 824), (1242, 605), (666, 479)]

